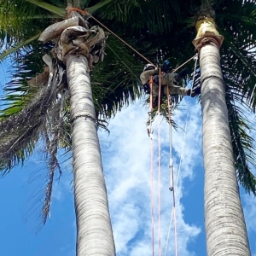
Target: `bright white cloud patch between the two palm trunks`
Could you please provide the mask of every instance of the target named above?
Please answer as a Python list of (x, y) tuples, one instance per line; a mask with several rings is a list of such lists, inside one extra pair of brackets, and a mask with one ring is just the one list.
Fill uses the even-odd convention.
[[(188, 101), (184, 101), (188, 104)], [(183, 102), (183, 103), (184, 103)], [(151, 252), (151, 202), (150, 202), (150, 139), (146, 131), (148, 109), (142, 105), (131, 105), (118, 113), (110, 122), (110, 136), (100, 133), (102, 160), (108, 188), (108, 201), (113, 223), (113, 234), (117, 255), (147, 255)], [(184, 109), (184, 108), (183, 108)], [(189, 123), (185, 147), (183, 148), (183, 166), (177, 188), (177, 236), (178, 253), (193, 255), (188, 251), (189, 241), (195, 240), (200, 229), (185, 223), (183, 219), (184, 178), (192, 179), (195, 158), (201, 154), (200, 106), (189, 111)], [(176, 111), (177, 125), (184, 128), (186, 110)], [(154, 121), (154, 136), (157, 137), (157, 118)], [(169, 129), (166, 121), (161, 123), (161, 244), (162, 252), (166, 245), (170, 213), (172, 211), (172, 193), (169, 169)], [(173, 131), (174, 171), (177, 177), (179, 157), (182, 153), (183, 134), (181, 129)], [(109, 142), (106, 144), (106, 140)], [(158, 220), (157, 220), (157, 140), (154, 140), (154, 229), (155, 252), (158, 251)], [(173, 224), (172, 224), (173, 227)], [(163, 253), (162, 253), (163, 254)], [(174, 236), (171, 230), (167, 255), (174, 254)]]

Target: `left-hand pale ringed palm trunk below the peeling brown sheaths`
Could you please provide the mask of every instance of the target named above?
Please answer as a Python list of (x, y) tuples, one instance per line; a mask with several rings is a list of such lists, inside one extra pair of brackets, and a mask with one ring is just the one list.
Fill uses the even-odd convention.
[(77, 217), (77, 255), (115, 255), (96, 113), (86, 57), (67, 55), (71, 94), (74, 197)]

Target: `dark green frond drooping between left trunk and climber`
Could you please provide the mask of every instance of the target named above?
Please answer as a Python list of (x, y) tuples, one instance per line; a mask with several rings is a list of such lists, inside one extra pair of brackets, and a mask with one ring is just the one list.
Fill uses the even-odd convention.
[(91, 73), (96, 111), (103, 119), (110, 118), (142, 95), (140, 57), (133, 55), (131, 49), (113, 36), (108, 38), (107, 52), (104, 61), (97, 64)]

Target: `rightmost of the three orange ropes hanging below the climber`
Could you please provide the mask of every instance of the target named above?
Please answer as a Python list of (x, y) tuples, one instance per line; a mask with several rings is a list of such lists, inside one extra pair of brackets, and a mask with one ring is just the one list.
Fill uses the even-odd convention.
[(168, 101), (168, 118), (169, 118), (169, 125), (170, 125), (170, 171), (171, 171), (171, 191), (172, 191), (172, 198), (173, 198), (173, 222), (174, 222), (174, 239), (175, 239), (175, 255), (177, 256), (177, 221), (176, 221), (176, 204), (175, 204), (175, 188), (174, 188), (174, 180), (173, 180), (173, 165), (172, 165), (172, 119), (171, 119), (171, 106), (170, 106), (170, 95), (169, 95), (169, 85), (167, 84), (167, 101)]

